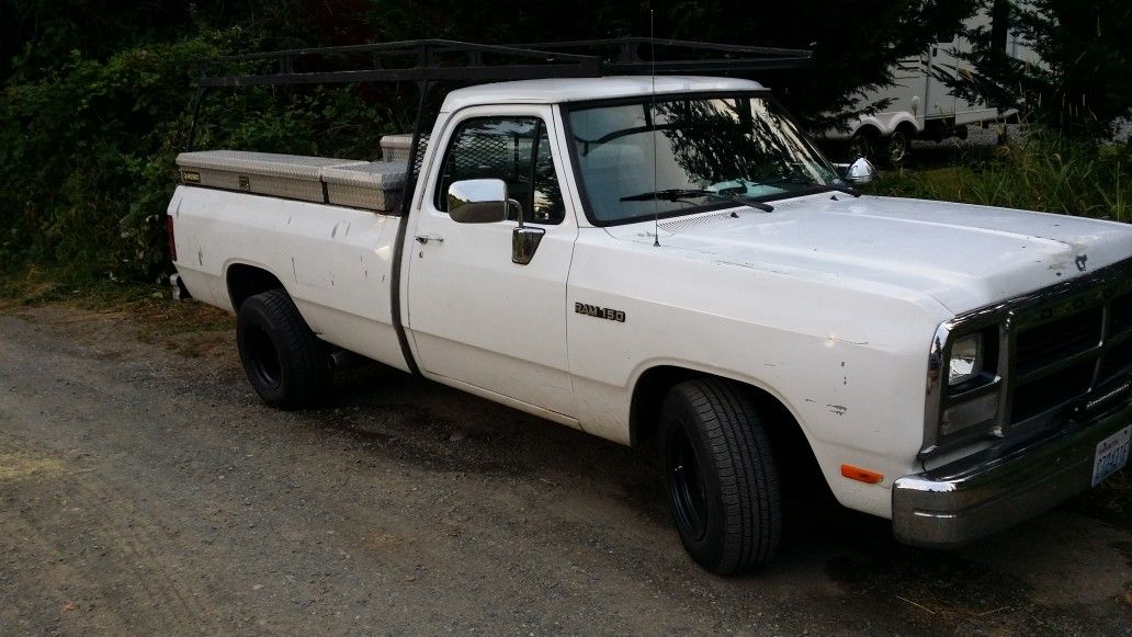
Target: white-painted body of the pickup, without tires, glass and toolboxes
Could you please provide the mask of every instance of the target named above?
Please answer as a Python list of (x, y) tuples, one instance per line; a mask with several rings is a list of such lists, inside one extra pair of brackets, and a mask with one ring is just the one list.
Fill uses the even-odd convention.
[[(1066, 282), (1110, 284), (1114, 268), (1125, 272), (1132, 262), (1132, 229), (852, 197), (832, 187), (764, 198), (773, 212), (735, 201), (599, 225), (593, 210), (588, 214), (569, 110), (720, 92), (764, 94), (746, 80), (691, 77), (456, 91), (435, 123), (405, 216), (182, 184), (169, 206), (177, 269), (195, 298), (229, 310), (233, 266), (269, 273), (319, 338), (408, 371), (412, 364), (393, 316), (400, 274), (396, 305), (409, 354), (429, 379), (627, 445), (634, 441), (634, 410), (642, 408), (634, 406), (638, 384), (650, 370), (678, 368), (773, 397), (796, 421), (778, 425), (800, 429), (831, 490), (849, 508), (893, 517), (894, 485), (902, 477), (920, 481), (916, 493), (964, 492), (966, 483), (938, 472), (1004, 442), (988, 432), (960, 446), (937, 444), (926, 414), (933, 379), (937, 386), (940, 375), (947, 376), (938, 362), (932, 368), (933, 345), (945, 352), (949, 329), (1006, 311), (1003, 303), (1060, 291)], [(479, 118), (533, 118), (546, 129), (563, 221), (541, 225), (546, 234), (529, 265), (512, 260), (515, 221), (456, 223), (437, 209), (443, 153), (463, 122)], [(620, 156), (628, 162), (634, 155)], [(408, 227), (398, 244), (402, 223)], [(1106, 302), (1132, 294), (1123, 283), (1112, 285)], [(623, 312), (624, 320), (595, 317), (582, 305)], [(1003, 352), (1003, 370), (1012, 369), (1011, 355)], [(1108, 429), (1129, 421), (1127, 399), (1121, 401), (1104, 405)], [(843, 465), (883, 479), (848, 479)], [(1002, 497), (1001, 489), (996, 493)], [(1026, 502), (1005, 523), (1049, 503)], [(981, 534), (952, 533), (946, 520), (919, 518), (943, 531), (898, 526), (898, 535), (944, 545)]]

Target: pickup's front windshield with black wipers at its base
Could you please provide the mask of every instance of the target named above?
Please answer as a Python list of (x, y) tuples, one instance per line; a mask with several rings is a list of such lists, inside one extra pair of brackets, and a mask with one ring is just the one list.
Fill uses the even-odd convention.
[(844, 187), (782, 109), (757, 95), (572, 107), (569, 123), (598, 223)]

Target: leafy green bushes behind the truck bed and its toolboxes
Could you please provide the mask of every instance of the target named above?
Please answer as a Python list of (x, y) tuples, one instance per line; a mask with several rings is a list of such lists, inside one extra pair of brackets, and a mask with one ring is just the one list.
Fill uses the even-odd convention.
[[(9, 83), (0, 102), (0, 259), (149, 279), (168, 267), (164, 212), (177, 183), (200, 58), (237, 50), (239, 31), (71, 59)], [(381, 104), (385, 104), (384, 106)], [(357, 158), (377, 154), (380, 98), (357, 89), (215, 89), (199, 148)], [(387, 130), (386, 130), (387, 131)]]

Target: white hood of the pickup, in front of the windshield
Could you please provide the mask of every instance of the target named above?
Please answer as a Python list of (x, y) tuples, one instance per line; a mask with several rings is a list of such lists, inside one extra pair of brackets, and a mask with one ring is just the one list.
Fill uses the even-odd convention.
[[(840, 192), (675, 217), (660, 244), (719, 265), (858, 279), (962, 313), (1132, 257), (1132, 226), (967, 204)], [(606, 229), (653, 241), (653, 223)]]

